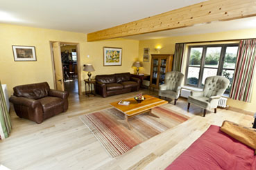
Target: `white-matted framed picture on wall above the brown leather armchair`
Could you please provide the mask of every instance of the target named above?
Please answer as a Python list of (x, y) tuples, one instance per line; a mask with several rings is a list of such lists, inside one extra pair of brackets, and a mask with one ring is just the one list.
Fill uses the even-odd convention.
[(34, 46), (12, 46), (15, 61), (37, 61)]

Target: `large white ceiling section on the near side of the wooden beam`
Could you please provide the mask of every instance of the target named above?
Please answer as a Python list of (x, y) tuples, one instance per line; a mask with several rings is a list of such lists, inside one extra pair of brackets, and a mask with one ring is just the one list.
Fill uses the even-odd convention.
[(0, 23), (94, 32), (205, 0), (0, 0)]

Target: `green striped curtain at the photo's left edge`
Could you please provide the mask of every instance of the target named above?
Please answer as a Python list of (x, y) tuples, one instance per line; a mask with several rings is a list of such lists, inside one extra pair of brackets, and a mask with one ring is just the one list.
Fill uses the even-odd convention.
[(10, 114), (6, 106), (6, 99), (3, 95), (3, 88), (0, 82), (0, 139), (8, 138), (12, 125), (10, 124)]

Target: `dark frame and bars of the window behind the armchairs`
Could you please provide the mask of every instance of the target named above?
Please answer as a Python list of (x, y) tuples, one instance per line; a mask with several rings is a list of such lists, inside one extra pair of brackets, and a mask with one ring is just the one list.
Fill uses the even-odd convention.
[[(201, 88), (203, 89), (204, 86), (202, 86), (202, 81), (203, 81), (203, 71), (204, 71), (204, 68), (213, 68), (213, 69), (217, 69), (217, 75), (222, 75), (222, 72), (223, 70), (235, 70), (235, 67), (234, 69), (232, 68), (223, 68), (224, 66), (224, 59), (225, 59), (225, 52), (227, 50), (227, 47), (232, 47), (232, 46), (237, 46), (239, 48), (239, 43), (232, 43), (232, 44), (202, 44), (202, 45), (191, 45), (191, 46), (188, 46), (188, 52), (187, 52), (187, 64), (186, 64), (186, 71), (185, 71), (185, 81), (184, 81), (184, 85), (185, 86), (191, 86), (191, 87), (194, 87), (194, 88)], [(205, 67), (205, 58), (206, 58), (206, 53), (207, 53), (207, 48), (208, 47), (221, 47), (221, 54), (220, 54), (220, 57), (219, 57), (219, 66), (218, 68), (216, 67), (210, 67), (210, 66), (206, 66)], [(190, 52), (191, 52), (191, 48), (203, 48), (202, 50), (202, 56), (201, 56), (201, 61), (200, 61), (200, 66), (189, 66), (189, 58), (190, 58)], [(237, 53), (238, 53), (238, 50), (237, 50)], [(187, 83), (187, 76), (188, 76), (188, 70), (189, 70), (189, 67), (196, 67), (196, 68), (200, 68), (199, 70), (199, 77), (198, 77), (198, 85), (197, 86), (194, 86), (194, 85), (191, 85), (191, 84), (188, 84)]]

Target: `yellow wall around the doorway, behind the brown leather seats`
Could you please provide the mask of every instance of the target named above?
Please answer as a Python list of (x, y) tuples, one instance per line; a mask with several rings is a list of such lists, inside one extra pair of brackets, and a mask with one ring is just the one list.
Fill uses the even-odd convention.
[[(9, 95), (12, 87), (21, 84), (48, 82), (53, 85), (53, 68), (51, 63), (50, 41), (74, 42), (80, 44), (80, 66), (83, 81), (87, 73), (83, 64), (93, 64), (94, 75), (130, 72), (133, 62), (138, 57), (139, 41), (130, 39), (113, 39), (110, 41), (87, 42), (86, 35), (77, 32), (50, 30), (0, 24), (0, 79), (7, 84)], [(15, 62), (12, 45), (35, 46), (37, 62)], [(103, 46), (123, 48), (122, 66), (103, 66)], [(87, 58), (87, 55), (90, 57)], [(85, 84), (82, 82), (82, 91)]]

